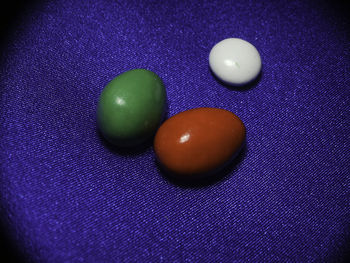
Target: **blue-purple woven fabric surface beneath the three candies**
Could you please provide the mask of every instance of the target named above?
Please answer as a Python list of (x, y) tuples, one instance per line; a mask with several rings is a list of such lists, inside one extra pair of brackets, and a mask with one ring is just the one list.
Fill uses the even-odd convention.
[[(349, 32), (325, 1), (50, 1), (26, 10), (0, 64), (1, 221), (35, 262), (331, 262), (350, 237)], [(259, 50), (244, 88), (209, 51)], [(96, 130), (103, 87), (146, 68), (168, 116), (219, 107), (247, 127), (223, 176), (183, 185), (152, 147), (122, 152)]]

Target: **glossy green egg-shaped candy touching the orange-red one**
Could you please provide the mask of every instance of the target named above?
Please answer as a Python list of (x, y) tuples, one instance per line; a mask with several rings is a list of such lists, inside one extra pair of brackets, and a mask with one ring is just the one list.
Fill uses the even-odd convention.
[(166, 104), (162, 80), (152, 71), (134, 69), (120, 74), (103, 89), (98, 102), (98, 126), (117, 146), (135, 146), (158, 128)]

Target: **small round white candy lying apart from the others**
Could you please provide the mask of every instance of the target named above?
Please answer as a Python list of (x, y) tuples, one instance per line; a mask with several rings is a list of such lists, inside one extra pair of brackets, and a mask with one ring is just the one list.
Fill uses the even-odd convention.
[(259, 75), (261, 58), (249, 42), (240, 38), (227, 38), (211, 49), (209, 65), (223, 82), (239, 86)]

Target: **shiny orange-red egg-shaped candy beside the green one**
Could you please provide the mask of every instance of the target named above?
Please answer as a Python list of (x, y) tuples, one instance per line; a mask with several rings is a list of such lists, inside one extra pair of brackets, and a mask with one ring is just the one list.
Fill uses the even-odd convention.
[(244, 139), (244, 124), (232, 112), (197, 108), (165, 121), (157, 131), (154, 149), (170, 172), (200, 175), (227, 163)]

